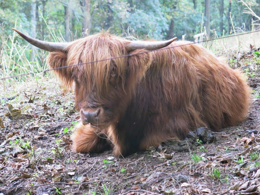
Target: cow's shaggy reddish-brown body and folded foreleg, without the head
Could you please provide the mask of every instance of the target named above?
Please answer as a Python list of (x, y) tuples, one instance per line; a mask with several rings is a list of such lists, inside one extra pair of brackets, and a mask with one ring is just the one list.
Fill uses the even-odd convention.
[[(189, 44), (186, 46), (182, 46)], [(238, 70), (232, 70), (206, 49), (178, 41), (171, 49), (152, 52), (145, 77), (126, 100), (118, 122), (103, 132), (114, 153), (128, 154), (157, 147), (162, 141), (184, 139), (190, 130), (206, 126), (219, 131), (237, 125), (248, 111), (250, 88)], [(169, 63), (172, 62), (172, 63)], [(120, 104), (118, 105), (120, 106)], [(79, 152), (105, 149), (89, 142), (80, 126), (74, 134)], [(94, 139), (93, 139), (94, 138)], [(97, 139), (100, 141), (100, 139)], [(98, 147), (96, 147), (98, 146)]]

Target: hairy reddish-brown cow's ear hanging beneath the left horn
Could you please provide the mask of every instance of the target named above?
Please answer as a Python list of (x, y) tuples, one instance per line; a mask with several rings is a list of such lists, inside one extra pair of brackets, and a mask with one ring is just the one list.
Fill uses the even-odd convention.
[[(47, 63), (59, 76), (63, 86), (71, 87), (73, 83), (73, 67), (66, 67), (67, 54), (63, 52), (51, 52), (47, 57)], [(64, 67), (64, 68), (63, 68)], [(66, 67), (66, 68), (65, 68)]]

